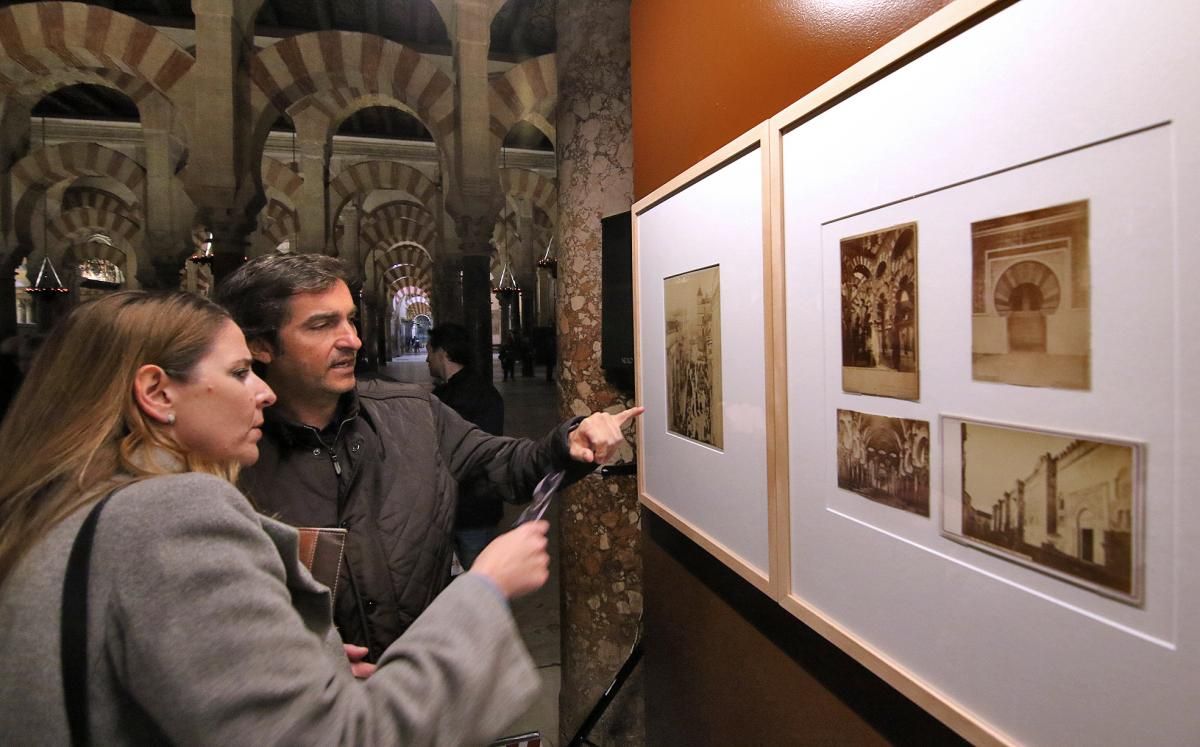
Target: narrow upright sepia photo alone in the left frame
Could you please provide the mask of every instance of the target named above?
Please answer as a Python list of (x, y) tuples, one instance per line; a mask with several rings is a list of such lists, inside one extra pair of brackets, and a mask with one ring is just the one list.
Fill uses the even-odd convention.
[(721, 419), (721, 280), (708, 267), (665, 281), (667, 429), (719, 449)]

